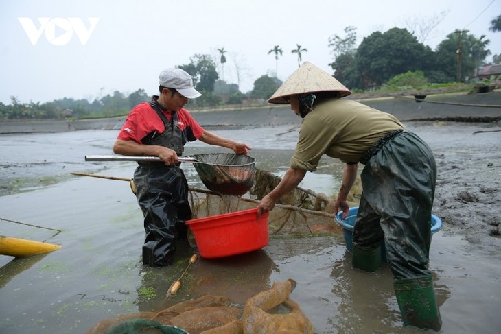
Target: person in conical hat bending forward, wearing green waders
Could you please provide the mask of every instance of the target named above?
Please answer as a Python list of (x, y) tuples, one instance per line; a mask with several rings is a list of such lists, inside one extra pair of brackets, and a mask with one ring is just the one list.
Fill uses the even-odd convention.
[(428, 270), (436, 164), (430, 147), (404, 130), (400, 121), (349, 99), (334, 77), (305, 62), (268, 99), (290, 104), (303, 118), (290, 168), (258, 205), (272, 210), (307, 171), (316, 171), (326, 154), (345, 163), (335, 212), (349, 213), (347, 195), (364, 165), (362, 196), (353, 226), (353, 267), (374, 272), (381, 265), (380, 245), (394, 275), (395, 294), (406, 326), (441, 328)]

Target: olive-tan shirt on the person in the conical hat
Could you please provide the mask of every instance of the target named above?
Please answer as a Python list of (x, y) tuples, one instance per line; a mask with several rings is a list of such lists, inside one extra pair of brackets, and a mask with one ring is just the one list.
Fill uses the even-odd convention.
[(404, 126), (391, 114), (348, 99), (328, 99), (303, 119), (290, 167), (316, 171), (323, 154), (358, 163), (384, 134), (399, 129)]

